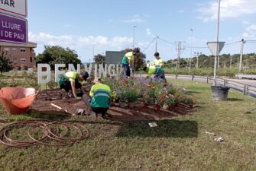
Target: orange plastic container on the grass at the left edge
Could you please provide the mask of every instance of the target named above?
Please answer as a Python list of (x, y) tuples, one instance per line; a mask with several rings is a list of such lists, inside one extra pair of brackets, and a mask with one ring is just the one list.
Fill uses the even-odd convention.
[(5, 87), (0, 89), (0, 102), (9, 114), (28, 112), (34, 98), (37, 96), (34, 88)]

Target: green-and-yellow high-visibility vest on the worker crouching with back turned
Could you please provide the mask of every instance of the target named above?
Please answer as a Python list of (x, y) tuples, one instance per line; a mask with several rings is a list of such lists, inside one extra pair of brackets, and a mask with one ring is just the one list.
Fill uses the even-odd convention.
[(109, 99), (110, 99), (110, 87), (105, 84), (96, 84), (92, 86), (89, 93), (92, 97), (91, 106), (95, 108), (109, 108)]

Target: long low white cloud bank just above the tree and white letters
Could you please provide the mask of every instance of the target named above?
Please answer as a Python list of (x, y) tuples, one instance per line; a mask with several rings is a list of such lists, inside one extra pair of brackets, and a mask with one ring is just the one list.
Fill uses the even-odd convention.
[[(61, 35), (55, 36), (51, 33), (28, 33), (29, 41), (37, 43), (37, 53), (41, 53), (44, 50), (44, 45), (50, 46), (63, 46), (76, 50), (80, 55), (91, 55), (92, 45), (96, 45), (97, 52), (105, 52), (106, 50), (122, 50), (127, 47), (131, 47), (133, 39), (126, 36), (73, 36), (73, 35)], [(83, 58), (83, 60), (87, 60)]]

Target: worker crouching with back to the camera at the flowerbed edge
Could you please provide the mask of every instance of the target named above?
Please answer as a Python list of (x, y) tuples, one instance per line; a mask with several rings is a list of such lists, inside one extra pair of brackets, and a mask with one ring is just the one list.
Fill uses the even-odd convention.
[(94, 86), (89, 93), (89, 96), (92, 97), (91, 100), (91, 109), (92, 116), (96, 116), (101, 113), (102, 118), (106, 119), (108, 115), (106, 112), (110, 106), (110, 87), (108, 85), (102, 84), (102, 80), (100, 78), (96, 78), (94, 80)]

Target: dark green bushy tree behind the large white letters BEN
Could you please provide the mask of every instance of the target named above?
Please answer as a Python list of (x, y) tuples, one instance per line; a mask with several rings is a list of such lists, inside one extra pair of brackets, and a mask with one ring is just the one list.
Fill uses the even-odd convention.
[(78, 55), (75, 50), (68, 47), (63, 48), (61, 46), (44, 46), (44, 52), (37, 55), (36, 62), (47, 63), (52, 69), (55, 64), (81, 64), (81, 60), (78, 59)]

